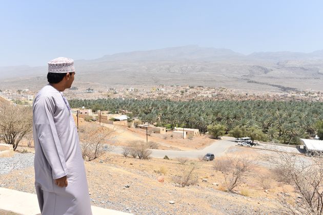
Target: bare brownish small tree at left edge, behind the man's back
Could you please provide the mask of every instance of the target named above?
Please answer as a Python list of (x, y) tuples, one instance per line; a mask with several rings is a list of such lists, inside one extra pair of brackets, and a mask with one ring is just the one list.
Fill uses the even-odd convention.
[(16, 150), (23, 137), (32, 131), (30, 107), (2, 103), (0, 106), (0, 140)]

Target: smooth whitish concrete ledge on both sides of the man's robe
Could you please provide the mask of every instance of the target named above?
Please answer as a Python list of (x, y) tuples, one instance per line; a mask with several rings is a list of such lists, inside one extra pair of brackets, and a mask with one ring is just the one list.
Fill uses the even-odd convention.
[[(110, 210), (101, 207), (91, 206), (93, 215), (117, 214), (125, 215), (125, 213), (117, 210)], [(23, 215), (41, 214), (39, 210), (37, 196), (28, 192), (21, 192), (13, 189), (0, 187), (0, 209), (12, 211)]]

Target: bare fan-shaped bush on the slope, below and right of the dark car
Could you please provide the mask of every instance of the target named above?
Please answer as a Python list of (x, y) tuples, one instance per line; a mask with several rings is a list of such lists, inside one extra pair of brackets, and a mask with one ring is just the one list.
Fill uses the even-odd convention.
[(229, 192), (244, 182), (245, 177), (253, 169), (254, 162), (244, 157), (227, 157), (223, 162), (225, 184)]

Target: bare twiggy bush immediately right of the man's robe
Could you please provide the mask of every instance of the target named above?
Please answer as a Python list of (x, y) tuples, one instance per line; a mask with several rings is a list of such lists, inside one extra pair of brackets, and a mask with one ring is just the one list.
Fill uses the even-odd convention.
[(114, 137), (116, 130), (92, 124), (91, 126), (80, 126), (79, 138), (82, 144), (82, 156), (86, 161), (101, 157), (112, 150), (112, 146), (106, 144), (108, 139)]

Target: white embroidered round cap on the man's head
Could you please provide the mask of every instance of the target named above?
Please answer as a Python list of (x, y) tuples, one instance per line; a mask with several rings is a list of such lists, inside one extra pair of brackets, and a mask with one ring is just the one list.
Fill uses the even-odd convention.
[(58, 57), (48, 62), (48, 73), (75, 72), (74, 60), (66, 57)]

